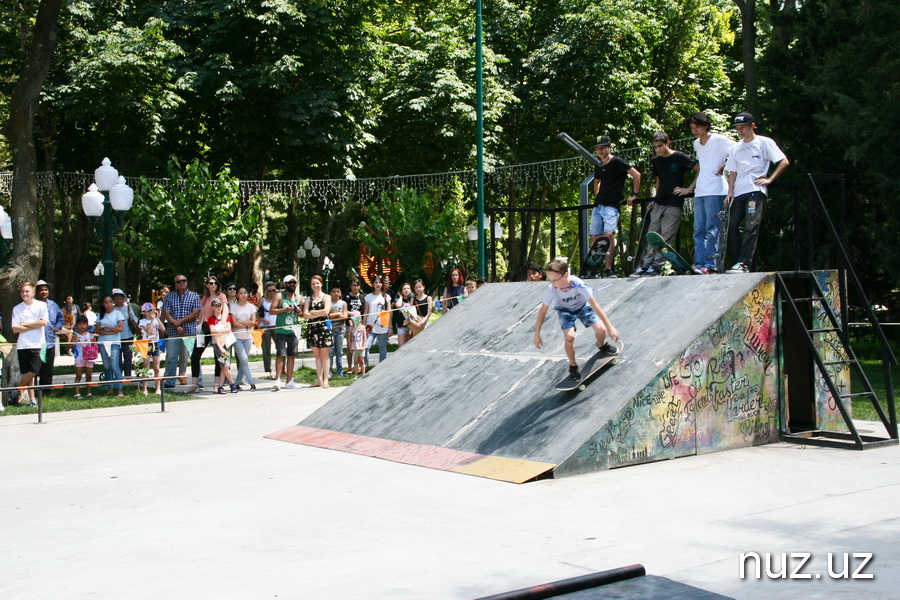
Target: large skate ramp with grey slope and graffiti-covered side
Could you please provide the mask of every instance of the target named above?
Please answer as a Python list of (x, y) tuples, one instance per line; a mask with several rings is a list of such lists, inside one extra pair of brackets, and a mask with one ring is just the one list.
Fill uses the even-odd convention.
[[(524, 482), (778, 439), (767, 274), (588, 282), (625, 342), (582, 392), (546, 283), (483, 286), (297, 426), (267, 437)], [(583, 363), (594, 351), (578, 326)]]

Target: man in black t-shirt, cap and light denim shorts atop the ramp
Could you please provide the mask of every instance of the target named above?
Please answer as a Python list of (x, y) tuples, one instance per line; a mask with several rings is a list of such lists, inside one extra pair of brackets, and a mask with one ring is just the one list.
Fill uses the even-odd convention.
[(591, 211), (591, 245), (600, 236), (609, 238), (609, 254), (606, 255), (604, 277), (615, 277), (613, 252), (616, 249), (616, 227), (619, 224), (619, 206), (625, 190), (625, 180), (631, 176), (633, 201), (641, 187), (641, 173), (618, 156), (610, 154), (612, 142), (609, 136), (601, 135), (594, 145), (594, 152), (601, 164), (594, 167), (594, 210)]

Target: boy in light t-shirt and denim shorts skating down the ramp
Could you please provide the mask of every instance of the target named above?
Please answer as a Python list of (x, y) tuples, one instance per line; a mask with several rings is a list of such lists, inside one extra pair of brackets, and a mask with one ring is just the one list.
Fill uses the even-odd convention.
[(543, 304), (538, 311), (537, 323), (534, 328), (534, 345), (540, 348), (541, 327), (547, 310), (555, 302), (556, 312), (559, 313), (559, 324), (565, 338), (566, 356), (569, 358), (569, 376), (573, 381), (581, 379), (578, 371), (578, 363), (575, 361), (575, 321), (581, 320), (585, 327), (592, 327), (597, 336), (597, 348), (606, 354), (617, 354), (618, 349), (606, 341), (607, 335), (615, 341), (619, 341), (619, 332), (613, 327), (606, 317), (606, 313), (594, 299), (594, 291), (578, 277), (569, 275), (569, 263), (564, 258), (550, 261), (544, 267), (547, 280), (550, 285), (544, 292)]

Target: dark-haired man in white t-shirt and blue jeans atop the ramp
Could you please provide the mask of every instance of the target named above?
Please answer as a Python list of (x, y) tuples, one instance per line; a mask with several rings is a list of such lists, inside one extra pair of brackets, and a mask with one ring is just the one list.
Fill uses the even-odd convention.
[[(716, 272), (716, 256), (719, 254), (719, 228), (728, 182), (725, 180), (725, 161), (734, 142), (724, 135), (710, 133), (712, 122), (706, 113), (697, 112), (688, 117), (694, 140), (694, 154), (700, 163), (700, 172), (694, 186), (694, 272)], [(722, 251), (725, 249), (722, 248)]]

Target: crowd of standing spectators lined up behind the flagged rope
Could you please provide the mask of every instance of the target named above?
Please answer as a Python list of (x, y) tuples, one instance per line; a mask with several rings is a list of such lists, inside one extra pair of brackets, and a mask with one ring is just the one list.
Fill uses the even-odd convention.
[[(428, 326), (433, 313), (452, 310), (483, 282), (466, 281), (454, 268), (442, 296), (435, 300), (421, 279), (392, 287), (387, 275), (375, 276), (367, 294), (357, 278), (348, 282), (345, 294), (340, 285), (326, 290), (324, 280), (315, 275), (308, 282), (308, 296), (299, 291), (293, 275), (285, 276), (280, 285), (267, 281), (262, 293), (256, 285), (223, 287), (214, 276), (203, 280), (198, 293), (189, 288), (186, 276), (177, 275), (171, 288), (154, 290), (143, 304), (132, 304), (123, 290), (114, 288), (100, 298), (95, 312), (90, 302), (78, 307), (71, 295), (57, 304), (50, 299), (52, 286), (39, 280), (23, 284), (23, 301), (13, 311), (22, 371), (19, 385), (51, 385), (59, 347), (74, 357), (77, 383), (90, 383), (95, 362), (102, 361), (101, 378), (110, 382), (107, 394), (124, 394), (121, 380), (136, 375), (135, 365), (141, 377), (158, 378), (164, 368), (162, 380), (151, 382), (156, 393), (163, 386), (181, 385), (192, 394), (203, 389), (201, 361), (211, 347), (213, 393), (252, 391), (257, 381), (250, 356), (257, 347), (266, 377), (273, 381), (271, 388), (293, 389), (299, 387), (294, 360), (303, 340), (315, 359), (316, 381), (310, 387), (327, 388), (332, 376), (362, 376), (374, 361), (370, 353), (376, 345), (378, 362), (386, 360), (388, 340), (394, 334), (398, 346), (406, 344)], [(75, 397), (82, 397), (83, 391), (89, 397), (91, 389), (76, 387)], [(139, 389), (147, 394), (150, 386), (142, 382)], [(29, 397), (33, 402), (33, 390)]]

